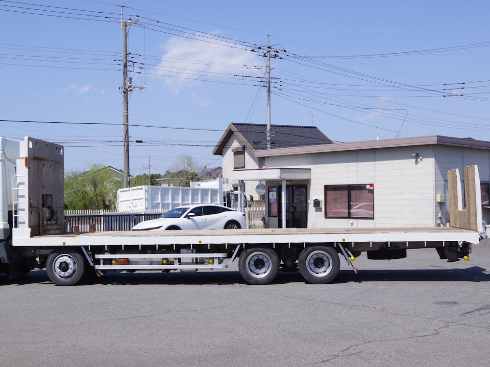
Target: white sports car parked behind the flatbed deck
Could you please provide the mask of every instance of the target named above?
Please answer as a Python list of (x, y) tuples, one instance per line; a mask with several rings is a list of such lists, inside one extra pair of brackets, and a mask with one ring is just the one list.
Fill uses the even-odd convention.
[(173, 208), (157, 219), (143, 221), (133, 230), (241, 229), (245, 214), (220, 205), (189, 205)]

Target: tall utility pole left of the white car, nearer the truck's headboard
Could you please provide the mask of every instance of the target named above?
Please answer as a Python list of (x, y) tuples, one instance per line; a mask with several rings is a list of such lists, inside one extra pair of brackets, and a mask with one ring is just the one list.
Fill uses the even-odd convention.
[(123, 8), (121, 5), (121, 28), (123, 29), (123, 87), (121, 91), (123, 93), (123, 157), (124, 157), (124, 188), (129, 187), (129, 118), (127, 110), (127, 99), (129, 92), (136, 89), (143, 89), (141, 85), (139, 87), (133, 87), (131, 85), (131, 78), (127, 77), (127, 28), (134, 23), (138, 23), (138, 17), (136, 21), (123, 20)]

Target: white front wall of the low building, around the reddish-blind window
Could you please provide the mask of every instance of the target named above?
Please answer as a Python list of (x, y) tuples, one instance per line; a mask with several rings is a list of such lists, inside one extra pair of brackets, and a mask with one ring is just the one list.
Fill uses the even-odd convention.
[[(422, 161), (416, 161), (417, 152)], [(273, 167), (310, 168), (308, 227), (369, 228), (435, 225), (431, 146), (268, 157)], [(324, 185), (374, 184), (374, 219), (325, 218)], [(313, 200), (322, 201), (321, 208)]]

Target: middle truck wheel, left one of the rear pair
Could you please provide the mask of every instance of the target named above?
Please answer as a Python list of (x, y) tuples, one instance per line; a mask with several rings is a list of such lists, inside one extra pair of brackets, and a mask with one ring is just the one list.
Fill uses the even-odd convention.
[(248, 284), (268, 284), (279, 271), (279, 257), (271, 249), (247, 249), (240, 255), (238, 269)]

